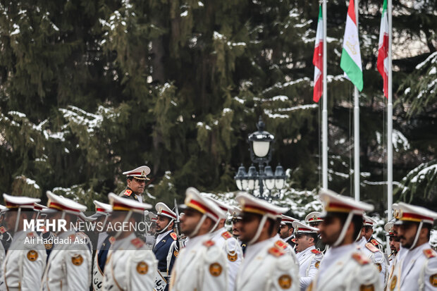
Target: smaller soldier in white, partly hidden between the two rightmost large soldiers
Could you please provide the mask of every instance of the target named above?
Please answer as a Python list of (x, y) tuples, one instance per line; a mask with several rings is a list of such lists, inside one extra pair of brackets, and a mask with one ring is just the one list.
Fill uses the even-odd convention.
[(386, 271), (387, 271), (387, 263), (386, 258), (384, 257), (383, 252), (378, 249), (378, 242), (376, 240), (371, 240), (371, 242), (367, 242), (367, 238), (365, 237), (366, 233), (369, 233), (368, 228), (373, 228), (373, 225), (376, 224), (374, 219), (369, 216), (363, 216), (363, 227), (361, 229), (361, 235), (359, 240), (357, 240), (357, 244), (359, 249), (374, 263), (376, 268), (378, 268), (379, 276), (381, 277), (382, 282), (386, 282)]

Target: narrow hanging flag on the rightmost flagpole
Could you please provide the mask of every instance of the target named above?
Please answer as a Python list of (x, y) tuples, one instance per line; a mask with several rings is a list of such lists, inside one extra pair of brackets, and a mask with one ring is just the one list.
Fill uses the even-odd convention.
[(384, 80), (384, 96), (388, 98), (388, 16), (387, 0), (384, 0), (381, 27), (379, 28), (378, 71)]

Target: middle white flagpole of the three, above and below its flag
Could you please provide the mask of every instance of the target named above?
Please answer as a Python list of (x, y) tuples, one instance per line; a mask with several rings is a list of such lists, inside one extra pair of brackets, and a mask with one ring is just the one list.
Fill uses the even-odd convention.
[[(359, 0), (355, 1), (355, 19), (358, 30), (358, 6)], [(354, 86), (354, 190), (355, 200), (359, 201), (359, 98), (358, 89)]]

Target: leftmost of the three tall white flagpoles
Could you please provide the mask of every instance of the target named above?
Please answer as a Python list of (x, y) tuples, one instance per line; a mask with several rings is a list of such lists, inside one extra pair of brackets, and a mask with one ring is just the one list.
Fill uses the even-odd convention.
[(327, 72), (327, 58), (326, 58), (326, 0), (323, 1), (322, 4), (322, 19), (323, 19), (323, 30), (324, 30), (324, 49), (323, 49), (323, 109), (321, 111), (322, 114), (322, 138), (321, 138), (321, 147), (322, 147), (322, 186), (325, 189), (328, 189), (328, 89), (326, 85), (326, 72)]

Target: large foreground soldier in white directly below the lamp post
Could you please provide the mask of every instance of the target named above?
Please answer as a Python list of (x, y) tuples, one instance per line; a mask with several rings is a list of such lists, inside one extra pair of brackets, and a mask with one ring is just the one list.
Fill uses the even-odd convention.
[(235, 282), (235, 291), (300, 290), (299, 268), (292, 256), (285, 254), (287, 243), (272, 240), (278, 232), (278, 218), (287, 209), (240, 193), (237, 202), (242, 209), (240, 239), (247, 242)]

